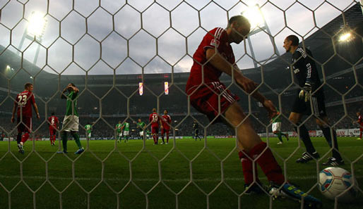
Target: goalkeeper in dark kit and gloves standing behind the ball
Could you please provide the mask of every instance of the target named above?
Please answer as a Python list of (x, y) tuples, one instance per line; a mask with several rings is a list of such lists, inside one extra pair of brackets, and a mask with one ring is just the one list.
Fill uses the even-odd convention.
[[(311, 51), (298, 46), (299, 38), (290, 35), (284, 41), (284, 48), (292, 53), (292, 71), (294, 72), (300, 89), (292, 105), (292, 112), (289, 119), (297, 127), (300, 139), (304, 142), (307, 151), (302, 154), (302, 158), (297, 159), (297, 163), (307, 163), (309, 160), (319, 158), (319, 153), (315, 150), (309, 132), (304, 124), (300, 125), (303, 115), (313, 115), (316, 124), (323, 131), (323, 135), (330, 147), (333, 147), (333, 157), (328, 158), (328, 162), (323, 165), (344, 165), (344, 160), (338, 151), (338, 141), (335, 130), (330, 128), (325, 109), (325, 99), (323, 88), (316, 69), (315, 61), (312, 59)], [(299, 131), (297, 128), (299, 127)]]

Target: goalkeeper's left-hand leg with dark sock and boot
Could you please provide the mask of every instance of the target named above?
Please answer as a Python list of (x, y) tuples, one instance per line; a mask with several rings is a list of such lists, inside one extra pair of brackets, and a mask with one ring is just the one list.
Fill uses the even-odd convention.
[(291, 112), (289, 116), (289, 120), (294, 123), (297, 127), (294, 127), (295, 132), (299, 134), (299, 138), (302, 139), (307, 152), (302, 153), (302, 157), (296, 160), (296, 163), (307, 163), (314, 158), (319, 158), (319, 153), (314, 148), (313, 143), (311, 142), (309, 132), (307, 131), (307, 127), (305, 125), (300, 125), (299, 122), (302, 118), (301, 113)]

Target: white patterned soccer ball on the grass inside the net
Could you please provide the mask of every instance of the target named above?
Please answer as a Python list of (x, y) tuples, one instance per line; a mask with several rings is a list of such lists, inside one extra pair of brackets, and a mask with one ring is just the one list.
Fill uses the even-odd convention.
[[(357, 181), (355, 181), (357, 182)], [(357, 197), (357, 189), (353, 186), (353, 177), (347, 170), (340, 167), (326, 167), (319, 173), (319, 189), (321, 193), (331, 200), (335, 197), (339, 202), (347, 203)]]

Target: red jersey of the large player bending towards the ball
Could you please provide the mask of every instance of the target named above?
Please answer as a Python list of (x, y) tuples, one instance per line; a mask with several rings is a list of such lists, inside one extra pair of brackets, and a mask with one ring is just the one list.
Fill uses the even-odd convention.
[[(201, 84), (202, 68), (204, 70), (204, 82), (219, 81), (222, 72), (212, 64), (206, 63), (206, 51), (208, 48), (217, 49), (229, 63), (234, 65), (234, 54), (232, 46), (228, 43), (228, 34), (223, 28), (216, 27), (203, 37), (201, 44), (199, 44), (198, 49), (196, 49), (193, 55), (194, 63), (191, 67), (189, 80), (186, 83), (186, 89)], [(203, 65), (205, 63), (206, 65)]]

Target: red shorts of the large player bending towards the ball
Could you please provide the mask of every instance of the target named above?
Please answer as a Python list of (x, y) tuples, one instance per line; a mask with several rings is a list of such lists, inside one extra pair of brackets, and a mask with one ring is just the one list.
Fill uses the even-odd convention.
[[(225, 84), (221, 82), (209, 82), (198, 87), (194, 85), (186, 87), (186, 94), (190, 96), (191, 105), (199, 112), (206, 114), (209, 120), (213, 120), (220, 114), (225, 113), (228, 107), (235, 101), (239, 100), (239, 97), (232, 94), (232, 92), (226, 89)], [(218, 102), (220, 98), (220, 103)], [(218, 107), (220, 106), (220, 112)], [(214, 122), (219, 122), (220, 118)]]

